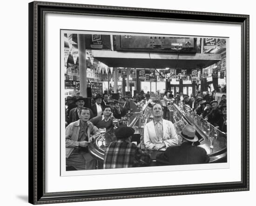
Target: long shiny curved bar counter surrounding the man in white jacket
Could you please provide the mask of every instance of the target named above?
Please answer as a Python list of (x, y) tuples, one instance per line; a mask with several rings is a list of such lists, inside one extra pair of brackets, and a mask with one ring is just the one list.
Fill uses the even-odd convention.
[[(153, 116), (151, 108), (149, 108), (147, 104), (140, 105), (140, 110), (141, 112), (132, 112), (128, 114), (127, 125), (135, 129), (135, 134), (132, 136), (132, 142), (137, 142), (137, 146), (142, 150), (145, 150), (143, 143), (143, 129), (147, 122), (152, 121)], [(198, 137), (198, 142), (194, 142), (194, 144), (206, 150), (210, 157), (210, 163), (227, 162), (226, 133), (223, 133), (213, 125), (204, 121), (186, 105), (178, 106), (173, 103), (171, 106), (168, 106), (168, 110), (168, 118), (174, 123), (177, 133), (182, 130), (185, 124), (190, 124), (195, 127), (195, 135)], [(88, 146), (90, 154), (100, 162), (103, 162), (104, 160), (105, 147), (107, 147), (110, 142), (116, 140), (115, 130), (113, 128), (108, 129), (104, 136), (104, 141), (102, 140), (102, 137), (99, 136)], [(181, 144), (182, 138), (179, 135), (178, 137), (179, 143)], [(149, 166), (157, 166), (155, 161), (156, 155), (162, 152), (152, 150), (146, 151), (151, 154), (152, 164)]]

